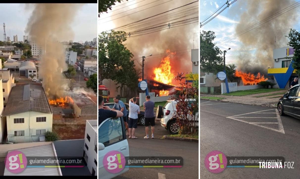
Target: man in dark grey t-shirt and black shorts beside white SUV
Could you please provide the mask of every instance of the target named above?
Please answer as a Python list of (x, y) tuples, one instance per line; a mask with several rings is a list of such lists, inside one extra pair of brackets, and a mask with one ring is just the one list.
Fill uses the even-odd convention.
[(144, 102), (144, 110), (145, 110), (145, 131), (146, 136), (144, 138), (149, 138), (148, 131), (149, 131), (149, 123), (151, 125), (151, 132), (152, 137), (154, 138), (154, 126), (155, 126), (155, 114), (154, 114), (154, 102), (150, 101), (150, 96), (146, 96), (146, 102)]

